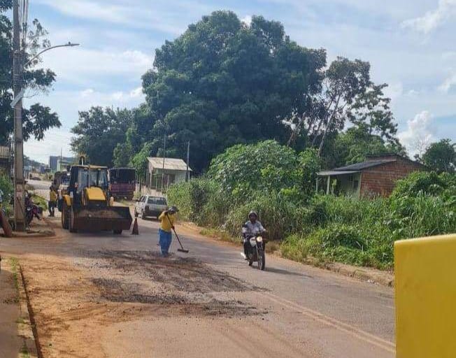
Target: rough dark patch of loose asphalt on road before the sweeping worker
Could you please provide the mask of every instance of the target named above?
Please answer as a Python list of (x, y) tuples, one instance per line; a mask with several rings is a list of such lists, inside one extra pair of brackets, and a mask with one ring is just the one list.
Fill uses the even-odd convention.
[(89, 269), (92, 283), (106, 301), (159, 305), (166, 315), (234, 317), (267, 313), (236, 297), (239, 292), (263, 289), (197, 259), (125, 250), (92, 251), (84, 256), (77, 264)]

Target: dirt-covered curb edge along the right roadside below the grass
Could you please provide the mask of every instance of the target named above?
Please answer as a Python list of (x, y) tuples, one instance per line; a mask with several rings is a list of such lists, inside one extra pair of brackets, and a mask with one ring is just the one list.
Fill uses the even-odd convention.
[[(201, 234), (200, 231), (203, 230), (204, 227), (198, 227), (196, 224), (194, 224), (192, 222), (179, 222), (179, 224), (182, 227), (185, 227), (185, 229), (188, 229), (191, 231), (197, 231), (197, 234), (204, 236), (206, 238), (210, 238), (212, 240), (217, 239), (215, 236), (208, 236), (208, 235)], [(225, 241), (225, 242), (229, 242), (229, 241)], [(275, 256), (283, 258), (283, 259), (287, 259), (286, 257), (283, 257), (280, 254), (280, 250), (273, 252), (272, 255), (275, 255)], [(294, 260), (290, 260), (290, 261), (297, 262)], [(383, 285), (383, 286), (387, 286), (387, 287), (394, 287), (394, 273), (391, 273), (391, 272), (380, 271), (380, 270), (376, 270), (375, 268), (339, 264), (337, 262), (322, 264), (321, 262), (317, 262), (316, 260), (313, 260), (311, 258), (306, 259), (305, 261), (299, 262), (299, 263), (308, 265), (308, 266), (324, 268), (325, 270), (332, 271), (334, 273), (339, 273), (339, 275), (356, 278), (357, 280), (360, 280), (360, 281), (374, 283), (374, 284)]]

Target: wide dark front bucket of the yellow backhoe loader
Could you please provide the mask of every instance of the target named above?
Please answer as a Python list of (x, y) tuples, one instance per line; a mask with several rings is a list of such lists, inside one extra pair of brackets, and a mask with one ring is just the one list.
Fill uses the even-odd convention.
[(126, 206), (106, 208), (73, 208), (73, 229), (83, 231), (129, 230), (133, 218)]

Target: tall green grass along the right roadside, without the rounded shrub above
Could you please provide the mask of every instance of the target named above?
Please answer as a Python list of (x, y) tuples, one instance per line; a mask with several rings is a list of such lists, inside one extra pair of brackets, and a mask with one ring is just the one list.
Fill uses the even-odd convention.
[(389, 199), (315, 195), (304, 202), (283, 191), (222, 192), (202, 178), (174, 185), (168, 195), (185, 219), (231, 236), (257, 210), (290, 259), (392, 268), (394, 241), (456, 232), (455, 182), (455, 176), (418, 173), (399, 182)]

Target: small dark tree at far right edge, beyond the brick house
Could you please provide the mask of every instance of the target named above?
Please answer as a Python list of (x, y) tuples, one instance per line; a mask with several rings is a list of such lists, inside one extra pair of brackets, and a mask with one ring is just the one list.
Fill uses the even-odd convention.
[(422, 156), (422, 162), (435, 171), (454, 173), (456, 170), (455, 143), (450, 139), (442, 139), (432, 143)]

